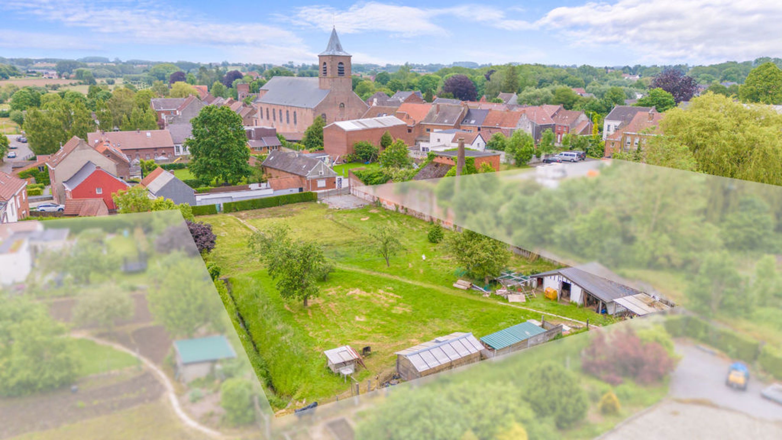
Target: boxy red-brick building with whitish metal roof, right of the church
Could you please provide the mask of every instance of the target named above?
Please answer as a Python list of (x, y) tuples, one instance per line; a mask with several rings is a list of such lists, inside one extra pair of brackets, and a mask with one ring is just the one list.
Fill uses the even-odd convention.
[(353, 144), (360, 141), (380, 146), (383, 133), (402, 139), (405, 145), (414, 142), (412, 133), (407, 132), (407, 124), (397, 117), (382, 116), (352, 121), (332, 122), (323, 128), (323, 149), (332, 159), (353, 153)]

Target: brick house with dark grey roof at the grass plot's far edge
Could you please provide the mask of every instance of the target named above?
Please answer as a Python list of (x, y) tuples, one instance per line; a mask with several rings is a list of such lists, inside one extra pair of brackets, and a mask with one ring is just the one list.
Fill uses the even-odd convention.
[(275, 190), (299, 189), (303, 192), (337, 188), (334, 170), (321, 160), (296, 151), (272, 151), (261, 166), (270, 176), (268, 183)]

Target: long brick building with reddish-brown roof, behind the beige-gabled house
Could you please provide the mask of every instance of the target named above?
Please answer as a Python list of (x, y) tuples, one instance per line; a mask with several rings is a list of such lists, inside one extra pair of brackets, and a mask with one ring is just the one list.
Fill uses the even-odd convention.
[(90, 145), (109, 142), (131, 161), (174, 160), (174, 139), (168, 130), (136, 130), (135, 132), (94, 132), (87, 135)]

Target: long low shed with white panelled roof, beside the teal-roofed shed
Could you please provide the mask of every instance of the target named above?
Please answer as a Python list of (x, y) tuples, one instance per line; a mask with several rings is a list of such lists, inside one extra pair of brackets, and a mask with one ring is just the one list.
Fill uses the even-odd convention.
[(455, 332), (396, 352), (396, 373), (404, 380), (451, 370), (481, 359), (481, 343), (472, 333)]

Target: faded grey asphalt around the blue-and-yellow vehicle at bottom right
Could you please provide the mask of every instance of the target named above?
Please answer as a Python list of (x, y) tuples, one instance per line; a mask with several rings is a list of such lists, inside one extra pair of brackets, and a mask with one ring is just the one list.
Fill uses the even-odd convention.
[(735, 409), (752, 417), (782, 421), (782, 405), (763, 399), (766, 387), (750, 376), (747, 391), (725, 384), (731, 361), (691, 344), (676, 344), (682, 356), (671, 375), (670, 395), (677, 399), (703, 399), (723, 408)]

